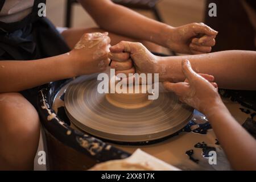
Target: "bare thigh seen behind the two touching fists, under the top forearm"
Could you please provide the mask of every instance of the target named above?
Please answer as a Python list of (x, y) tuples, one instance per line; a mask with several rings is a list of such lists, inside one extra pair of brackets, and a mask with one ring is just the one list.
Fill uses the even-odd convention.
[[(90, 32), (106, 32), (106, 31), (100, 28), (69, 28), (68, 30), (63, 31), (62, 35), (65, 41), (67, 42), (68, 46), (72, 49), (75, 46), (75, 44), (80, 40), (83, 34), (90, 33)], [(115, 44), (118, 44), (122, 40), (125, 40), (129, 42), (141, 42), (142, 44), (144, 44), (144, 46), (150, 49), (150, 51), (162, 52), (162, 47), (154, 43), (127, 38), (125, 36), (117, 35), (112, 32), (109, 32), (109, 37), (111, 39), (112, 46), (114, 46)]]

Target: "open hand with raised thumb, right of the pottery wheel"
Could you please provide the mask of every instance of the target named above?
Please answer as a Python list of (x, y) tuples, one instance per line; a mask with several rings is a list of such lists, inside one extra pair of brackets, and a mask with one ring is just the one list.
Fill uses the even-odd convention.
[(204, 114), (210, 114), (222, 104), (214, 77), (197, 74), (191, 68), (189, 60), (182, 61), (184, 82), (163, 82), (164, 88), (179, 96), (181, 102), (192, 106)]

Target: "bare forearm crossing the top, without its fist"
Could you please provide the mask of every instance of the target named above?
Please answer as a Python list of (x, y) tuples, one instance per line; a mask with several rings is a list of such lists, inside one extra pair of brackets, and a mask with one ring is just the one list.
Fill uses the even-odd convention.
[(80, 3), (98, 26), (119, 35), (162, 44), (163, 30), (171, 28), (110, 1), (80, 0)]

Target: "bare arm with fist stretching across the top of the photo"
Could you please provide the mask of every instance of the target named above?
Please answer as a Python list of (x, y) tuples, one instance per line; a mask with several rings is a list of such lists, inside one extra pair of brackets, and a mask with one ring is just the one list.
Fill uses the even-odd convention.
[[(119, 35), (147, 40), (180, 53), (210, 52), (217, 32), (203, 23), (171, 27), (110, 0), (80, 0), (101, 28)], [(201, 37), (201, 38), (200, 38)]]

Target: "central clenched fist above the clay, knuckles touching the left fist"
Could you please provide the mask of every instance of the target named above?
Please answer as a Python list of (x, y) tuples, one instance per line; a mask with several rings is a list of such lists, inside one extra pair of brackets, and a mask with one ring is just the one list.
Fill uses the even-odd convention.
[(110, 47), (111, 68), (118, 73), (156, 73), (158, 57), (153, 55), (141, 43), (122, 41)]

